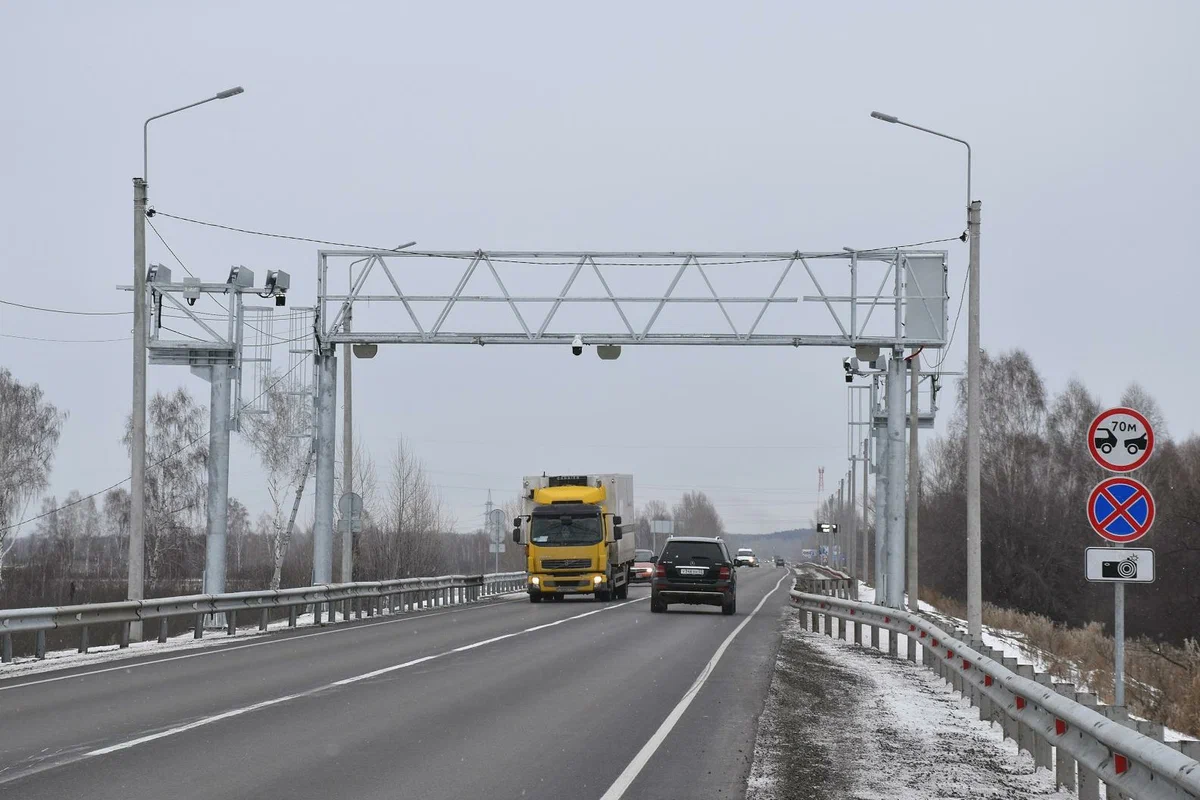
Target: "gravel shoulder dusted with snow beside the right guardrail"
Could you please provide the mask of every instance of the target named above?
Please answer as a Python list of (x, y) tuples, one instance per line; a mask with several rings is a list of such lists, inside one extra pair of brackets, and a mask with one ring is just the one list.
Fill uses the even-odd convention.
[(785, 614), (749, 800), (1073, 796), (918, 663)]

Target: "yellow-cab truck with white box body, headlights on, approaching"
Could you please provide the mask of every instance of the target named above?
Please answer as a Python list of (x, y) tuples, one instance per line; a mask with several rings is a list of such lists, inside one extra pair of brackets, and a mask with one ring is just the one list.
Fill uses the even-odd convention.
[(529, 602), (544, 597), (629, 595), (634, 536), (634, 476), (534, 475), (521, 491), (522, 513), (512, 521), (512, 541), (526, 546)]

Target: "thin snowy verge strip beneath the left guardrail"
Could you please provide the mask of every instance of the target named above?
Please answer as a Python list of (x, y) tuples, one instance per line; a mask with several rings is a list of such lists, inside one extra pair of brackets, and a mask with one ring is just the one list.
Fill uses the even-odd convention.
[(366, 625), (366, 624), (378, 624), (383, 620), (398, 620), (403, 618), (420, 619), (420, 615), (428, 615), (428, 612), (448, 612), (455, 609), (466, 609), (470, 607), (478, 607), (480, 604), (488, 604), (494, 602), (504, 602), (511, 600), (523, 600), (528, 597), (524, 591), (514, 591), (504, 595), (494, 595), (492, 597), (486, 597), (478, 603), (460, 604), (460, 606), (446, 606), (446, 607), (433, 607), (424, 608), (416, 612), (404, 612), (401, 614), (384, 613), (377, 616), (364, 616), (362, 620), (352, 620), (350, 626), (342, 627), (343, 621), (337, 621), (332, 624), (314, 625), (312, 614), (300, 614), (296, 616), (296, 626), (292, 628), (288, 626), (287, 620), (278, 620), (270, 622), (265, 631), (259, 631), (258, 626), (239, 627), (238, 634), (234, 637), (227, 636), (224, 630), (210, 628), (204, 633), (203, 639), (193, 638), (191, 632), (181, 633), (179, 636), (173, 636), (167, 639), (163, 644), (160, 644), (157, 639), (150, 639), (148, 642), (134, 642), (131, 643), (128, 648), (121, 649), (115, 644), (106, 645), (94, 645), (89, 648), (88, 652), (77, 652), (76, 650), (53, 650), (46, 654), (46, 658), (37, 660), (32, 656), (24, 656), (13, 658), (12, 663), (0, 666), (0, 680), (8, 678), (23, 678), (25, 675), (34, 675), (43, 672), (52, 672), (56, 669), (72, 669), (76, 667), (94, 667), (97, 664), (110, 664), (114, 662), (124, 661), (126, 658), (136, 658), (139, 656), (178, 656), (185, 655), (193, 650), (205, 650), (209, 648), (215, 648), (220, 645), (228, 645), (238, 643), (248, 643), (256, 639), (262, 639), (270, 636), (271, 633), (278, 633), (281, 631), (289, 630), (304, 630), (304, 628), (324, 628), (325, 631), (337, 631), (337, 630), (349, 630), (354, 624)]

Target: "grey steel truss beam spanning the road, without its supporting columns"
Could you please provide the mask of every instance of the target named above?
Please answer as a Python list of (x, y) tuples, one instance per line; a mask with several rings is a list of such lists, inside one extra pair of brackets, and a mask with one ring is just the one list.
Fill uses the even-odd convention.
[[(422, 276), (444, 275), (455, 264), (462, 271), (449, 294), (422, 294), (406, 290), (398, 277), (400, 267), (408, 266), (403, 259), (422, 259), (419, 265)], [(916, 260), (925, 265), (940, 264), (941, 281), (937, 285), (922, 287), (922, 279), (912, 267)], [(517, 293), (509, 289), (502, 277), (508, 265), (540, 266), (557, 269), (566, 276), (562, 288), (554, 293)], [(710, 278), (714, 267), (728, 269), (742, 265), (778, 265), (779, 276), (774, 289), (766, 295), (722, 295)], [(815, 294), (781, 295), (780, 288), (799, 264), (798, 275), (806, 278), (805, 285)], [(864, 265), (871, 265), (874, 277), (882, 279), (874, 293), (858, 290)], [(860, 252), (592, 252), (592, 251), (376, 251), (376, 249), (326, 249), (318, 253), (317, 287), (317, 336), (319, 347), (343, 343), (352, 344), (570, 344), (581, 336), (586, 344), (724, 344), (724, 345), (774, 345), (774, 347), (856, 347), (877, 345), (940, 348), (946, 343), (946, 251), (860, 251)], [(347, 288), (334, 291), (330, 287), (330, 269), (349, 266)], [(613, 267), (670, 267), (672, 277), (658, 294), (614, 294), (611, 289)], [(356, 270), (356, 271), (355, 271)], [(438, 272), (436, 272), (437, 270)], [(848, 271), (848, 294), (829, 294), (822, 285), (841, 281)], [(491, 277), (494, 288), (486, 293), (467, 293), (475, 275)], [(571, 289), (583, 273), (593, 273), (604, 289), (601, 295), (574, 296)], [(676, 294), (680, 279), (689, 272), (700, 276), (707, 287), (707, 295), (680, 296)], [(935, 270), (936, 272), (936, 270)], [(820, 273), (820, 277), (818, 277)], [(928, 269), (923, 275), (929, 276)], [(368, 279), (384, 289), (367, 291)], [(382, 276), (382, 277), (380, 277)], [(803, 279), (803, 278), (802, 278)], [(874, 283), (874, 281), (872, 281)], [(346, 331), (343, 319), (355, 302), (398, 303), (402, 308), (396, 324), (386, 329)], [(797, 330), (794, 332), (760, 332), (760, 323), (767, 309), (776, 303), (815, 302), (828, 312), (827, 330)], [(422, 324), (415, 306), (438, 305), (440, 311), (430, 323)], [(451, 312), (461, 306), (506, 306), (515, 323), (512, 330), (446, 330)], [(700, 332), (664, 331), (660, 314), (668, 305), (694, 303), (716, 306), (727, 330)], [(738, 305), (758, 306), (755, 319), (749, 325), (738, 326), (730, 308)], [(539, 305), (546, 308), (536, 319), (527, 319), (529, 309), (522, 313), (521, 305)], [(644, 325), (635, 326), (629, 313), (632, 306), (653, 305)], [(580, 306), (611, 307), (620, 320), (610, 330), (552, 331), (556, 320), (562, 325), (570, 309)], [(878, 306), (890, 306), (895, 318), (893, 330), (868, 333), (868, 326)], [(911, 308), (911, 312), (910, 312)], [(860, 311), (865, 309), (864, 313)], [(401, 325), (402, 323), (402, 325)], [(356, 319), (358, 324), (358, 319)], [(656, 327), (658, 326), (658, 327)], [(401, 330), (403, 327), (404, 330)], [(520, 330), (516, 330), (520, 329)], [(919, 329), (919, 330), (918, 330)]]

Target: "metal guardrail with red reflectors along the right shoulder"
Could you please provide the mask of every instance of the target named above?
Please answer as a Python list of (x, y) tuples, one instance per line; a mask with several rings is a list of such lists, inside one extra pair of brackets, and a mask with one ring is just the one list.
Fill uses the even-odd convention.
[(1084, 800), (1098, 800), (1102, 782), (1109, 798), (1200, 798), (1200, 741), (1163, 742), (1162, 724), (1129, 720), (1120, 706), (1098, 706), (1094, 694), (1034, 675), (1031, 664), (967, 643), (920, 614), (847, 600), (840, 596), (841, 583), (797, 578), (798, 587), (818, 589), (791, 591), (808, 630), (818, 631), (823, 622), (834, 636), (836, 619), (839, 638), (865, 645), (870, 631), (874, 646), (880, 630), (890, 631), (889, 651), (896, 654), (896, 634), (904, 636), (910, 661), (920, 643), (922, 662), (968, 697), (980, 720), (1000, 722), (1037, 766), (1054, 769), (1057, 786)]

